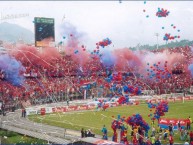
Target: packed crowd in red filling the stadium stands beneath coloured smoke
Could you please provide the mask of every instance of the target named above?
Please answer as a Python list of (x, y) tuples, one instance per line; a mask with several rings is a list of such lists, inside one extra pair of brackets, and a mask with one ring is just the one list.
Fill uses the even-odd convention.
[[(91, 83), (94, 85), (86, 88), (88, 95), (90, 91), (90, 94), (95, 93), (97, 96), (97, 92), (93, 92), (93, 90), (100, 87), (106, 90), (101, 95), (107, 96), (112, 94), (110, 91), (112, 82), (108, 83), (105, 78), (114, 72), (121, 72), (124, 77), (122, 84), (129, 82), (133, 86), (140, 86), (141, 90), (154, 90), (157, 94), (187, 90), (193, 83), (191, 73), (185, 70), (193, 59), (191, 47), (159, 49), (152, 52), (156, 54), (165, 50), (169, 51), (170, 54), (179, 53), (185, 59), (173, 65), (173, 71), (178, 70), (180, 73), (173, 73), (171, 77), (160, 78), (159, 81), (149, 81), (148, 78), (140, 77), (137, 69), (129, 67), (129, 65), (122, 70), (118, 65), (107, 68), (97, 57), (91, 57), (84, 66), (80, 66), (79, 62), (74, 61), (71, 55), (61, 55), (57, 59), (52, 58), (49, 65), (34, 64), (32, 63), (33, 58), (26, 60), (24, 56), (18, 58), (15, 56), (25, 67), (24, 82), (20, 86), (12, 85), (6, 80), (6, 74), (1, 69), (0, 100), (8, 106), (13, 104), (21, 106), (21, 102), (27, 100), (30, 100), (31, 104), (37, 104), (39, 102), (37, 100), (45, 98), (46, 101), (41, 103), (52, 102), (54, 99), (55, 101), (65, 100), (67, 94), (71, 94), (69, 95), (71, 97), (78, 94), (79, 99), (81, 99), (85, 89), (83, 86)], [(116, 92), (113, 92), (112, 95), (116, 95)]]

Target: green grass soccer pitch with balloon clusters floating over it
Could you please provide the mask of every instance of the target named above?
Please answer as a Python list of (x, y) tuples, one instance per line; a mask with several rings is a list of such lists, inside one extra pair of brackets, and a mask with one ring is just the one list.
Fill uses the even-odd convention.
[[(101, 129), (103, 125), (106, 125), (108, 129), (108, 136), (112, 136), (112, 116), (117, 118), (117, 115), (121, 115), (121, 117), (125, 116), (127, 118), (128, 116), (137, 113), (142, 115), (143, 119), (150, 125), (151, 119), (148, 117), (148, 114), (153, 114), (153, 111), (150, 111), (147, 104), (112, 107), (108, 108), (106, 111), (55, 113), (45, 116), (33, 115), (29, 116), (29, 119), (35, 122), (42, 122), (53, 126), (79, 131), (81, 128), (92, 129), (95, 134), (99, 135), (102, 135)], [(186, 119), (189, 116), (193, 118), (193, 101), (186, 101), (185, 103), (169, 103), (169, 112), (167, 112), (162, 118)], [(128, 126), (128, 135), (130, 135), (130, 131), (131, 129)], [(149, 131), (149, 135), (150, 133), (151, 129)], [(175, 134), (175, 141), (181, 142), (179, 140), (179, 133)]]

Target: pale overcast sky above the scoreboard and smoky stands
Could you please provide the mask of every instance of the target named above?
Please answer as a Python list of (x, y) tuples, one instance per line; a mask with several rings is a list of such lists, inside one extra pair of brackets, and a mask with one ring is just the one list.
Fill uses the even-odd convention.
[[(56, 41), (60, 42), (62, 27), (68, 23), (81, 35), (81, 43), (89, 48), (109, 38), (115, 48), (137, 45), (165, 44), (165, 33), (193, 40), (193, 1), (1, 1), (1, 16), (28, 14), (29, 16), (0, 20), (21, 25), (34, 32), (34, 17), (55, 19)], [(159, 8), (170, 11), (168, 17), (158, 18)], [(143, 12), (145, 10), (145, 12)], [(146, 16), (149, 16), (148, 18)], [(171, 24), (176, 26), (174, 29)], [(164, 27), (164, 29), (162, 29)], [(61, 30), (63, 29), (63, 30)], [(178, 32), (177, 30), (180, 30)]]

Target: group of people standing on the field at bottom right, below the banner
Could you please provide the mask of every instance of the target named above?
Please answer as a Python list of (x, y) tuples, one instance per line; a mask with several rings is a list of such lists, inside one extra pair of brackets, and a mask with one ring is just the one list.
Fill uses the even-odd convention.
[[(178, 122), (177, 130), (174, 130), (174, 126), (171, 123), (167, 128), (163, 129), (159, 125), (156, 127), (156, 123), (152, 121), (151, 123), (151, 135), (144, 130), (140, 125), (133, 125), (131, 128), (130, 137), (128, 135), (128, 128), (122, 130), (120, 128), (120, 143), (133, 145), (161, 145), (161, 144), (170, 144), (175, 143), (174, 136), (179, 136), (180, 141), (185, 142), (184, 145), (193, 145), (193, 131), (191, 130), (192, 119), (189, 116), (187, 118), (186, 126), (181, 126), (181, 123)], [(103, 139), (108, 140), (108, 131), (105, 125), (102, 128)], [(84, 137), (84, 136), (82, 136)], [(118, 135), (113, 136), (113, 141), (118, 141)]]

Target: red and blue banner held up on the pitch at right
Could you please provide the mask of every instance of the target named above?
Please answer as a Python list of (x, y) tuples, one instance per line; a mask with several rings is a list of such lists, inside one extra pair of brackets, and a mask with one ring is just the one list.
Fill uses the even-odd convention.
[(177, 130), (178, 129), (178, 122), (180, 121), (180, 125), (182, 128), (186, 127), (186, 119), (166, 119), (166, 118), (161, 118), (158, 122), (161, 128), (168, 129), (168, 126), (170, 124), (173, 124), (173, 129)]

